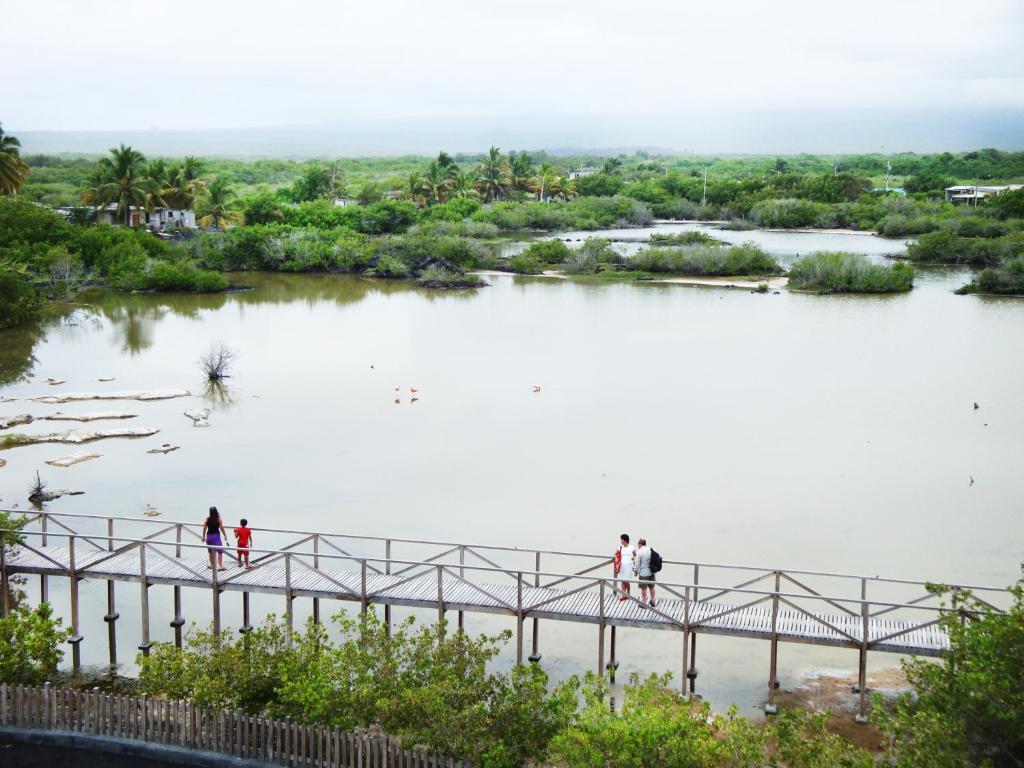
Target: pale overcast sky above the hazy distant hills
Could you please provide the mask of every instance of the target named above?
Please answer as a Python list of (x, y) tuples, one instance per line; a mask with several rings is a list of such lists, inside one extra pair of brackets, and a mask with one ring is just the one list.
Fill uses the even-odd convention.
[(24, 32), (4, 36), (0, 122), (30, 135), (331, 126), (414, 148), (446, 127), (472, 129), (466, 142), (511, 127), (705, 150), (728, 148), (716, 134), (756, 144), (755, 130), (729, 133), (736, 121), (775, 125), (777, 144), (779, 116), (799, 132), (829, 115), (919, 115), (926, 144), (943, 114), (961, 125), (949, 141), (995, 120), (993, 138), (1024, 143), (1020, 0), (4, 5)]

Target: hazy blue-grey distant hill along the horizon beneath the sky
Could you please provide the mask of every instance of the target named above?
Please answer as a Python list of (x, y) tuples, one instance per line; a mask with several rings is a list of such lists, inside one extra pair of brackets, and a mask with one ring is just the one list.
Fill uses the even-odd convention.
[(1024, 150), (1024, 110), (831, 110), (538, 118), (430, 118), (263, 128), (111, 131), (7, 126), (27, 154), (95, 155), (119, 143), (162, 156), (379, 157), (485, 152), (492, 144), (553, 155), (795, 155)]

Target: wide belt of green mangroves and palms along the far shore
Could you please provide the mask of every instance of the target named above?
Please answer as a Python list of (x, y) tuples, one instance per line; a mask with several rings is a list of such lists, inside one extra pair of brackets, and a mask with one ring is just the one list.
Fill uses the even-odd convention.
[[(22, 325), (43, 300), (70, 299), (88, 286), (217, 292), (228, 287), (227, 271), (347, 272), (431, 288), (481, 285), (471, 272), (488, 268), (528, 274), (557, 265), (609, 279), (779, 271), (765, 254), (721, 248), (701, 232), (656, 234), (628, 261), (589, 241), (499, 258), (503, 233), (633, 227), (656, 218), (715, 220), (739, 230), (920, 236), (911, 260), (984, 268), (967, 292), (1019, 294), (1013, 261), (1024, 252), (1024, 189), (976, 206), (951, 205), (943, 190), (964, 179), (1021, 178), (1024, 153), (996, 150), (564, 158), (490, 147), (430, 160), (245, 161), (147, 159), (121, 145), (101, 158), (23, 157), (17, 139), (0, 129), (0, 327)], [(160, 206), (195, 210), (200, 231), (127, 225), (137, 220), (133, 211)], [(120, 225), (93, 223), (100, 209)], [(849, 271), (856, 260), (847, 261)], [(903, 270), (884, 281), (877, 270), (854, 271), (859, 281), (825, 290), (904, 290), (898, 286), (907, 281)]]

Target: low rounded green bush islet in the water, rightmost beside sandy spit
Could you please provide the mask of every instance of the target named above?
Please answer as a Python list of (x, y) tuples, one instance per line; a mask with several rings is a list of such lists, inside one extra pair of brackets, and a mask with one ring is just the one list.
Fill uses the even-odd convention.
[(913, 288), (909, 264), (874, 264), (866, 256), (821, 251), (790, 267), (790, 288), (818, 293), (895, 293)]

